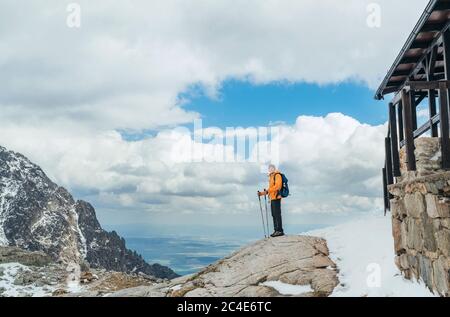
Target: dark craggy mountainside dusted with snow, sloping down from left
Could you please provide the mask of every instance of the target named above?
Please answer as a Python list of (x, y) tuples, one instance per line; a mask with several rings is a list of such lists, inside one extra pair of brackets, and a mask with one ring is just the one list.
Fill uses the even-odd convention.
[(146, 263), (115, 232), (100, 226), (94, 208), (75, 201), (42, 169), (21, 154), (0, 147), (0, 246), (42, 251), (53, 261), (162, 278), (177, 275)]

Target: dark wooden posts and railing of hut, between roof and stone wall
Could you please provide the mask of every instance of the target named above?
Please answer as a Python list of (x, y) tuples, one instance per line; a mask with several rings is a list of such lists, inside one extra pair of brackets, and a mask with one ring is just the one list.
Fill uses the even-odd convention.
[[(450, 125), (449, 125), (450, 81), (406, 82), (391, 103), (389, 103), (389, 129), (385, 139), (386, 161), (383, 168), (383, 194), (385, 213), (390, 209), (388, 186), (400, 177), (399, 152), (405, 148), (407, 171), (416, 170), (414, 139), (431, 131), (431, 137), (439, 137), (441, 142), (442, 169), (450, 169)], [(436, 96), (439, 97), (437, 113)], [(417, 106), (429, 100), (429, 120), (417, 126)]]

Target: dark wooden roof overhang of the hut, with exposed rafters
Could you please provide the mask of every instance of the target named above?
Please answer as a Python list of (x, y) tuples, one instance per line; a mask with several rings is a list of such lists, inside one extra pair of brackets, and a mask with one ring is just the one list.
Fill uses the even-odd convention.
[(424, 62), (433, 49), (437, 49), (434, 78), (447, 79), (441, 35), (449, 26), (450, 0), (431, 0), (378, 88), (375, 99), (381, 100), (387, 94), (400, 91), (407, 81), (426, 81)]

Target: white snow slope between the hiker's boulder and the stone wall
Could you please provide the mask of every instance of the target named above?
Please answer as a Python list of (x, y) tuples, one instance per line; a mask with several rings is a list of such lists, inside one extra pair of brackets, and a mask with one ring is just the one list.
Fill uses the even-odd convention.
[(325, 238), (340, 273), (332, 296), (433, 296), (424, 286), (404, 279), (394, 264), (389, 216), (367, 215), (335, 227), (307, 232)]

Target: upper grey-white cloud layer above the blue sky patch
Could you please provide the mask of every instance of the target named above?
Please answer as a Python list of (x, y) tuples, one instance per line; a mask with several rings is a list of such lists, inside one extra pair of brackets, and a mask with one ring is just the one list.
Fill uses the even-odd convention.
[(377, 1), (380, 28), (369, 0), (78, 2), (80, 29), (65, 2), (0, 4), (0, 122), (157, 129), (199, 116), (180, 92), (229, 78), (375, 87), (427, 1)]

